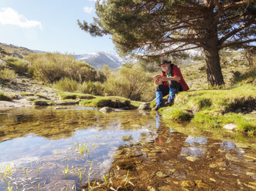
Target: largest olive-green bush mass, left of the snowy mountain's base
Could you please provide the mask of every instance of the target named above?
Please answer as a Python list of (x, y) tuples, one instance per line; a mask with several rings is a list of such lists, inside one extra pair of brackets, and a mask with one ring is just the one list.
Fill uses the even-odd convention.
[(87, 82), (94, 81), (97, 77), (97, 72), (92, 66), (78, 62), (73, 55), (30, 54), (26, 56), (26, 59), (32, 62), (29, 72), (39, 81), (52, 83), (66, 77), (77, 82)]

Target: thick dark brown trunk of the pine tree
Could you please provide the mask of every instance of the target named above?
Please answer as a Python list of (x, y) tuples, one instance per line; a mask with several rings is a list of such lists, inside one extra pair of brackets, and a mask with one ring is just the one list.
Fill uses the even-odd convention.
[[(208, 2), (210, 3), (209, 0), (205, 1), (205, 3)], [(213, 12), (213, 6), (210, 6), (203, 19), (205, 27), (205, 44), (203, 45), (203, 50), (207, 62), (207, 81), (213, 86), (224, 84), (224, 79), (220, 68), (219, 49), (217, 48), (217, 25), (213, 25), (215, 18), (216, 13)]]

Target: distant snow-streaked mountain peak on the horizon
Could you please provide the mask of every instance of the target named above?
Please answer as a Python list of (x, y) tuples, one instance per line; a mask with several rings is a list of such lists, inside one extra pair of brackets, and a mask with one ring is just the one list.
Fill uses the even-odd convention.
[(104, 64), (108, 65), (110, 69), (118, 69), (122, 63), (131, 61), (128, 58), (121, 58), (115, 52), (92, 52), (89, 54), (75, 55), (75, 58), (94, 66), (94, 69), (102, 68)]

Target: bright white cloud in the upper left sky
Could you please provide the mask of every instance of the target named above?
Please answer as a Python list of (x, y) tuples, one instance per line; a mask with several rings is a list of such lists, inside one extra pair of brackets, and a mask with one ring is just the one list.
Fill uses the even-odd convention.
[(1, 8), (0, 9), (0, 24), (2, 25), (17, 25), (21, 28), (33, 28), (39, 27), (43, 30), (41, 22), (29, 20), (24, 15), (20, 15), (12, 8)]

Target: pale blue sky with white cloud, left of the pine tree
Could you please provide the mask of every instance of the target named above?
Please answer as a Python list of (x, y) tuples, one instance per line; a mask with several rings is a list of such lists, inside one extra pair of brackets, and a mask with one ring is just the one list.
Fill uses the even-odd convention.
[(91, 37), (77, 19), (92, 22), (94, 0), (0, 0), (0, 42), (47, 52), (114, 51), (111, 36)]

